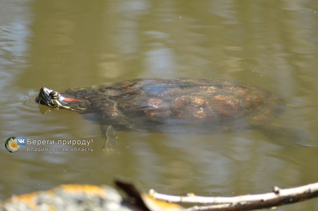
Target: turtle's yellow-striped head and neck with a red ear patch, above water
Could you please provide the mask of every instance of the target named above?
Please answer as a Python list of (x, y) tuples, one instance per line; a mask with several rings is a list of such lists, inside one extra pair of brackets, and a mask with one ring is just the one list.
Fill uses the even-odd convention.
[(78, 98), (72, 94), (58, 93), (45, 87), (40, 89), (35, 102), (50, 108), (67, 109), (81, 113), (85, 113), (90, 106), (90, 102), (86, 99)]

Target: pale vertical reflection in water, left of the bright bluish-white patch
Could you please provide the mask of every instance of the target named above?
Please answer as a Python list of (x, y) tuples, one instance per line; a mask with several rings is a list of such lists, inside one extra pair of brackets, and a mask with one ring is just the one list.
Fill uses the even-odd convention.
[(148, 0), (127, 0), (112, 1), (110, 8), (104, 8), (102, 31), (105, 33), (99, 43), (101, 61), (98, 65), (103, 78), (118, 78), (135, 71), (142, 46), (140, 21), (149, 7)]

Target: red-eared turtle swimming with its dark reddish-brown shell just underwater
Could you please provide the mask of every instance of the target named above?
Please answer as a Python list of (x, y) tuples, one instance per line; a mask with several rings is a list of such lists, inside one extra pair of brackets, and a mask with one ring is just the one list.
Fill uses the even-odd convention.
[(35, 101), (79, 112), (99, 123), (107, 149), (115, 131), (210, 133), (259, 129), (285, 109), (281, 96), (256, 86), (190, 78), (136, 79), (70, 88), (65, 93), (43, 87)]

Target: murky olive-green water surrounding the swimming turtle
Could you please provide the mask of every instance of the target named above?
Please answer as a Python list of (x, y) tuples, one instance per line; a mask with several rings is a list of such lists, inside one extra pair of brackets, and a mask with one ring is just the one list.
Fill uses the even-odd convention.
[[(207, 196), (318, 181), (316, 1), (2, 0), (0, 17), (1, 199), (64, 183), (112, 184), (116, 176), (145, 191)], [(280, 93), (290, 106), (274, 124), (311, 140), (286, 146), (257, 131), (119, 132), (116, 153), (105, 155), (99, 125), (74, 112), (42, 115), (34, 102), (42, 86), (63, 92), (145, 77), (236, 80)], [(55, 140), (69, 151), (9, 153), (11, 136)], [(90, 152), (57, 145), (92, 138), (83, 146)], [(317, 208), (314, 199), (278, 210)]]

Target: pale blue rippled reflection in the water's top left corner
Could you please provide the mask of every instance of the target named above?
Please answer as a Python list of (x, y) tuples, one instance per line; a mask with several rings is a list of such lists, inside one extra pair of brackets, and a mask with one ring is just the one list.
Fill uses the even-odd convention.
[[(15, 83), (18, 69), (24, 68), (27, 62), (25, 57), (28, 56), (28, 41), (31, 37), (29, 26), (32, 19), (29, 14), (30, 8), (25, 7), (25, 4), (24, 1), (19, 7), (11, 1), (0, 2), (0, 13), (3, 16), (0, 21), (1, 90), (10, 83)], [(8, 93), (0, 94), (1, 99), (7, 98)]]

